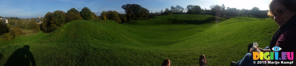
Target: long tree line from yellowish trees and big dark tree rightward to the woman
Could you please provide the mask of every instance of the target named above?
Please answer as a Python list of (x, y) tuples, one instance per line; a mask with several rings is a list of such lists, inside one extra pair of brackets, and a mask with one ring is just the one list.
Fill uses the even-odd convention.
[(114, 20), (118, 23), (125, 23), (132, 20), (147, 20), (152, 17), (162, 16), (162, 15), (178, 15), (178, 14), (189, 14), (189, 15), (212, 15), (217, 17), (249, 17), (250, 15), (255, 16), (255, 18), (266, 18), (268, 10), (259, 10), (258, 7), (253, 7), (251, 10), (248, 9), (237, 9), (225, 7), (224, 4), (221, 6), (218, 4), (211, 5), (210, 9), (202, 9), (198, 5), (187, 5), (183, 8), (179, 5), (171, 6), (170, 9), (166, 8), (164, 11), (149, 12), (149, 10), (141, 7), (138, 4), (126, 4), (123, 5), (125, 14), (117, 15), (113, 11), (103, 11), (101, 13), (100, 20)]

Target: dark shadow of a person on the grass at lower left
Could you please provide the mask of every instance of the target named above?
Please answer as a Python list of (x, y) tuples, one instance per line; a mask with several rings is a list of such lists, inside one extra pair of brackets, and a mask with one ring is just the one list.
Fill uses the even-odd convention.
[(36, 66), (33, 54), (29, 49), (30, 46), (25, 45), (24, 47), (15, 50), (7, 59), (4, 66), (29, 66), (30, 63), (32, 63), (32, 66)]

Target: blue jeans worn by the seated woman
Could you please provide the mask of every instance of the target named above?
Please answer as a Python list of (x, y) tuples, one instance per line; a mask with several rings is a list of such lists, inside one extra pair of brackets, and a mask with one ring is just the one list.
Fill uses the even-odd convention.
[[(269, 46), (265, 47), (265, 49), (270, 49)], [(256, 62), (254, 64), (253, 62)], [(253, 60), (253, 54), (252, 53), (247, 53), (244, 55), (244, 58), (242, 60), (237, 62), (237, 66), (261, 66), (260, 64), (257, 64), (258, 60)]]

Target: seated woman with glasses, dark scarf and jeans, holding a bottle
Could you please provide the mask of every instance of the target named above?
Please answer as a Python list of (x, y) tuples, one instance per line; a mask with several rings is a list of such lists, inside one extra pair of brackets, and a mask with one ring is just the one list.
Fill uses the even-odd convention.
[[(293, 64), (282, 64), (283, 62), (292, 62), (293, 60), (287, 59), (287, 55), (281, 55), (281, 52), (291, 52), (292, 55), (296, 52), (296, 0), (271, 0), (269, 2), (268, 16), (274, 19), (279, 25), (279, 29), (276, 31), (270, 41), (270, 46), (265, 49), (259, 47), (252, 47), (252, 44), (248, 48), (252, 47), (244, 58), (238, 62), (231, 62), (231, 66), (296, 66), (296, 61)], [(281, 50), (273, 51), (273, 47), (278, 46)], [(253, 60), (254, 52), (278, 52), (278, 59), (287, 60)], [(259, 62), (259, 64), (257, 64)], [(263, 63), (260, 63), (263, 62)], [(266, 63), (265, 63), (266, 62)], [(279, 62), (278, 64), (271, 64), (268, 62)]]

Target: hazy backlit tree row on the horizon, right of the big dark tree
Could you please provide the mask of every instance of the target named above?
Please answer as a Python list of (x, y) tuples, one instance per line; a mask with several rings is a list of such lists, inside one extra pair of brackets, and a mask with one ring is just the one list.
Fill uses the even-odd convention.
[(237, 9), (225, 7), (224, 4), (221, 6), (218, 4), (211, 5), (210, 9), (202, 9), (198, 5), (187, 5), (186, 8), (183, 8), (179, 5), (176, 7), (171, 6), (170, 9), (166, 8), (165, 11), (161, 10), (160, 12), (150, 12), (149, 18), (161, 16), (161, 15), (178, 15), (178, 14), (189, 14), (189, 15), (212, 15), (217, 17), (246, 17), (253, 15), (256, 18), (266, 18), (268, 10), (259, 10), (258, 7), (253, 7), (251, 10), (248, 9)]

